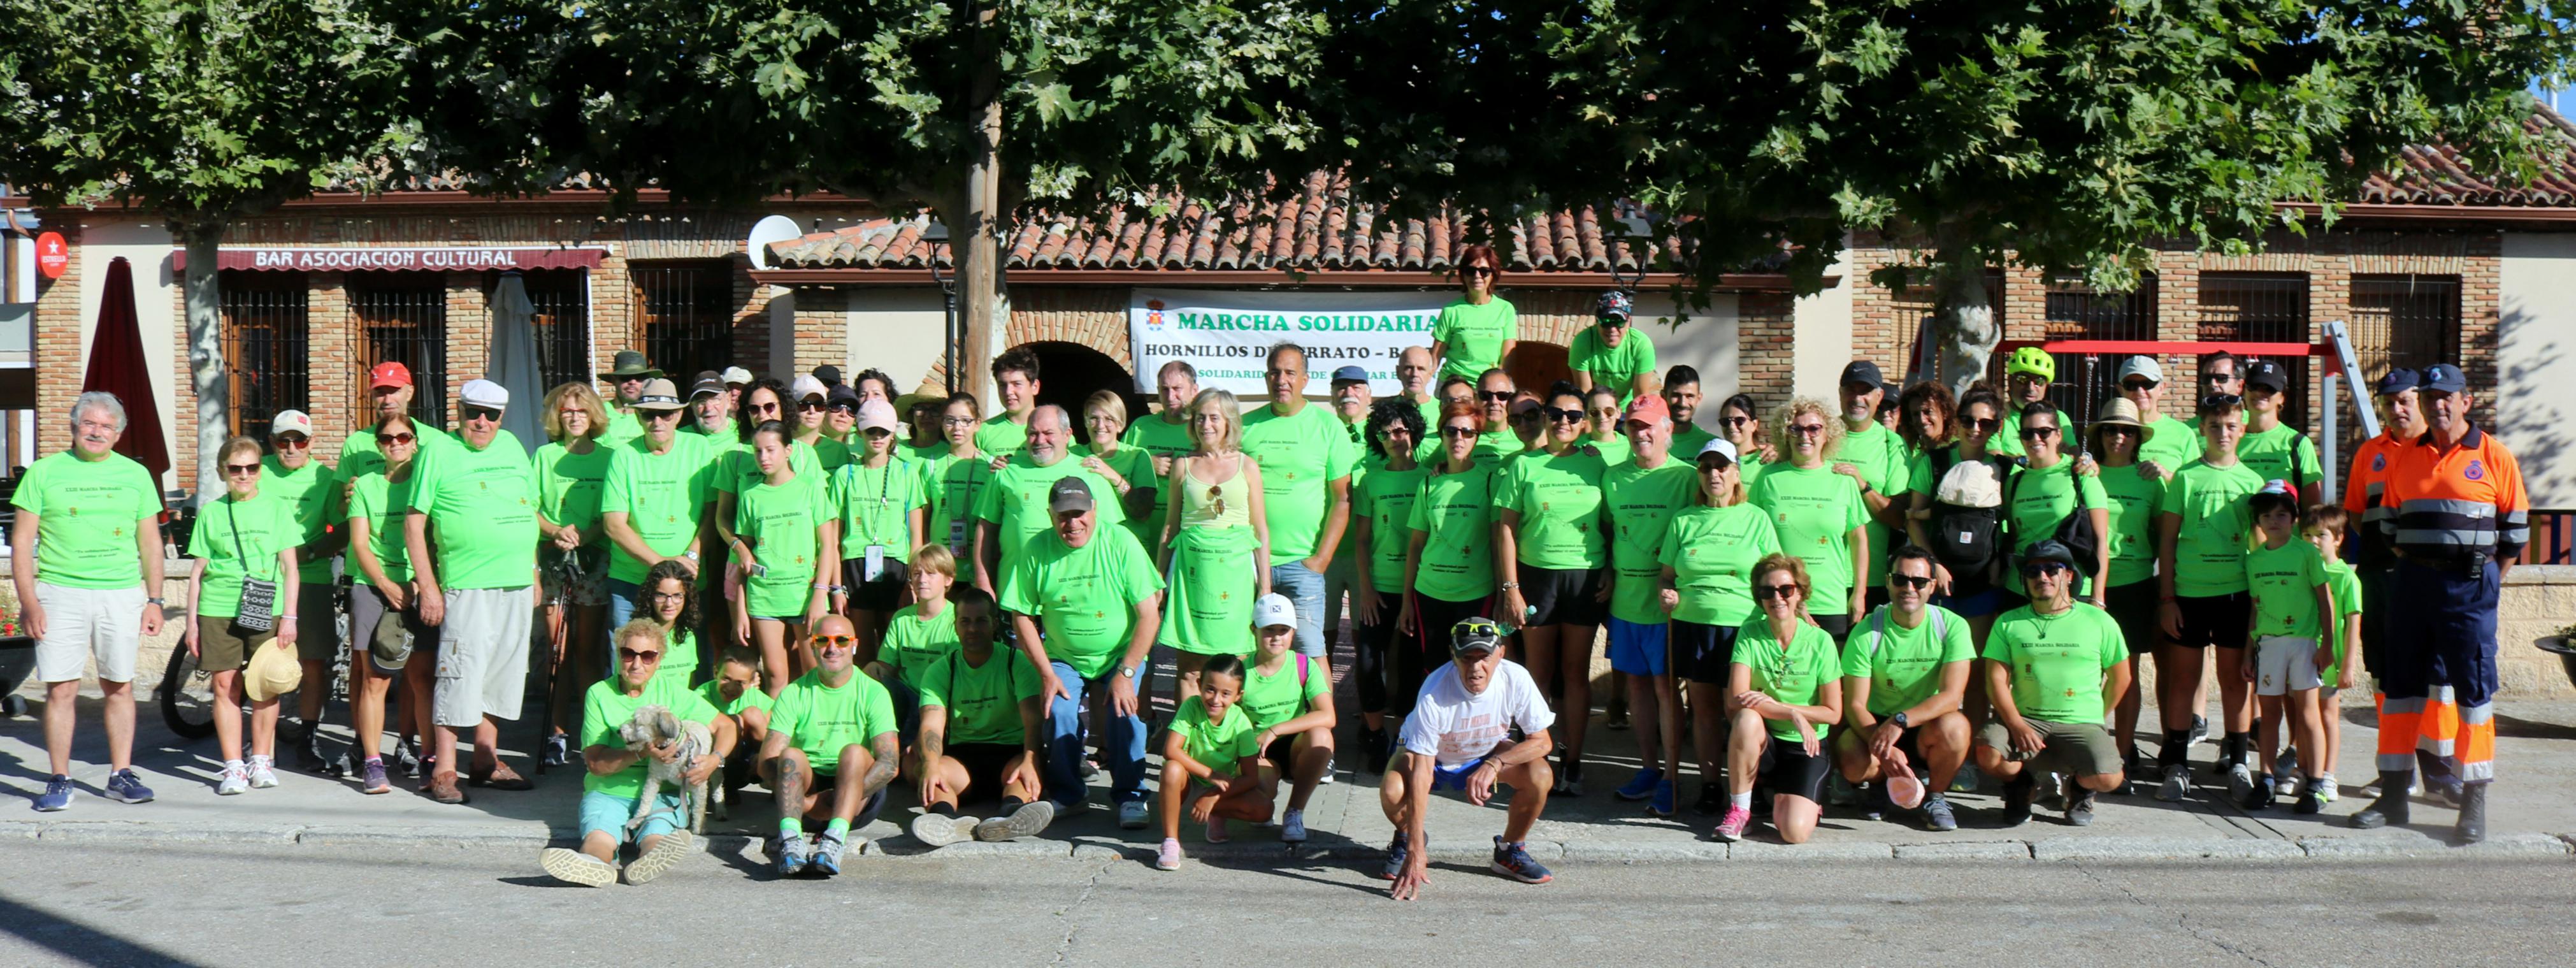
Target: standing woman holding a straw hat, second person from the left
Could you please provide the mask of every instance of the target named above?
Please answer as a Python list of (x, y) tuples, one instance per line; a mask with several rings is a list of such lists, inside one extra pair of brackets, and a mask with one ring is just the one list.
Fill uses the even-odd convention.
[[(242, 669), (260, 649), (278, 649), (289, 669), (296, 664), (296, 546), (304, 543), (304, 525), (289, 502), (260, 499), (260, 440), (232, 438), (216, 451), (224, 469), (224, 497), (206, 502), (196, 512), (196, 533), (188, 538), (188, 651), (196, 667), (214, 675), (214, 741), (224, 752), (224, 772), (216, 775), (214, 793), (234, 796), (247, 788), (273, 788), (278, 749), (278, 693), (250, 693)], [(245, 615), (245, 584), (268, 582), (273, 590), (268, 620)], [(330, 620), (330, 618), (325, 618)], [(242, 703), (250, 703), (250, 759), (242, 759)]]

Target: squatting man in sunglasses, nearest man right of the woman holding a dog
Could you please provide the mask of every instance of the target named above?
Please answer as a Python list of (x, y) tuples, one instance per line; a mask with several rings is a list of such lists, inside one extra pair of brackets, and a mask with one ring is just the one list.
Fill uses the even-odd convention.
[[(814, 623), (814, 672), (770, 705), (770, 739), (760, 744), (760, 780), (778, 790), (778, 875), (840, 873), (850, 826), (868, 826), (886, 806), (886, 783), (902, 762), (894, 695), (858, 675), (858, 631), (848, 618)], [(806, 824), (824, 824), (806, 847)]]

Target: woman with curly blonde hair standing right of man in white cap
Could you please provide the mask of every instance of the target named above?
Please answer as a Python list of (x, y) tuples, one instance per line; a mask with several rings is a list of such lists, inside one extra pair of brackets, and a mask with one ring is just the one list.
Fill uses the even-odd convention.
[[(605, 675), (600, 633), (608, 623), (608, 530), (600, 528), (600, 492), (608, 484), (608, 404), (590, 384), (546, 391), (536, 412), (546, 445), (536, 448), (536, 577), (546, 595), (546, 631), (562, 644), (546, 656), (554, 677), (554, 729), (538, 767), (564, 767), (580, 757), (572, 734), (582, 729), (582, 690)], [(567, 582), (569, 574), (569, 582)]]

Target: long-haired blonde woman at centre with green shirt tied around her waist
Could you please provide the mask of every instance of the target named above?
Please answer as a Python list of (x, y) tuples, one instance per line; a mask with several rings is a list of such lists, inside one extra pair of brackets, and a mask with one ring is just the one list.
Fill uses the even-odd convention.
[(1172, 458), (1172, 510), (1162, 525), (1170, 592), (1157, 641), (1180, 651), (1175, 703), (1198, 695), (1208, 656), (1252, 654), (1252, 602), (1270, 595), (1262, 469), (1244, 453), (1234, 394), (1198, 391), (1190, 443), (1190, 453)]

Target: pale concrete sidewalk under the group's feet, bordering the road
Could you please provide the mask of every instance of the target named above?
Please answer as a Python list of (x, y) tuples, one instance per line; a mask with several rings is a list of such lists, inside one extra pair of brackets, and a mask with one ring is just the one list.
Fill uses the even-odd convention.
[[(33, 700), (33, 687), (21, 690)], [(144, 690), (147, 693), (147, 690)], [(1337, 687), (1340, 708), (1358, 708), (1350, 682)], [(345, 723), (343, 711), (332, 711), (335, 723)], [(1355, 734), (1355, 713), (1345, 713), (1345, 744)], [(2148, 711), (2154, 721), (2154, 711)], [(2002, 829), (1996, 824), (1999, 801), (1994, 785), (1984, 796), (1953, 796), (1960, 808), (1960, 829), (1932, 834), (1911, 819), (1862, 821), (1850, 808), (1826, 808), (1826, 819), (1808, 844), (1780, 844), (1757, 821), (1754, 839), (1718, 844), (1708, 839), (1716, 824), (1710, 816), (1690, 811), (1698, 793), (1698, 775), (1685, 765), (1682, 814), (1674, 819), (1646, 816), (1643, 803), (1618, 801), (1610, 790), (1636, 770), (1633, 731), (1592, 721), (1592, 749), (1584, 767), (1584, 796), (1551, 798), (1546, 819), (1530, 834), (1533, 855), (1543, 860), (2058, 860), (2058, 857), (2385, 857), (2385, 855), (2447, 855), (2447, 837), (2455, 814), (2439, 801), (2416, 801), (2414, 826), (2357, 832), (2344, 819), (2367, 801), (2360, 785), (2375, 780), (2370, 749), (2375, 741), (2372, 713), (2367, 708), (2344, 711), (2344, 793), (2329, 803), (2326, 814), (2293, 816), (2287, 806), (2249, 816), (2228, 803), (2218, 803), (2208, 790), (2187, 803), (2159, 803), (2151, 788), (2133, 785), (2133, 796), (2105, 796), (2097, 821), (2087, 829), (2066, 826), (2058, 814), (2043, 808), (2030, 824)], [(345, 726), (327, 726), (332, 754), (348, 744)], [(183, 741), (160, 723), (160, 711), (149, 693), (139, 708), (137, 770), (160, 796), (155, 803), (126, 806), (106, 801), (103, 736), (98, 729), (95, 693), (80, 708), (80, 741), (75, 744), (72, 777), (80, 793), (70, 811), (36, 814), (21, 803), (44, 785), (44, 731), (33, 716), (0, 721), (0, 837), (36, 837), (46, 842), (273, 842), (273, 844), (520, 844), (538, 847), (564, 842), (574, 834), (574, 801), (580, 775), (556, 770), (538, 777), (526, 747), (531, 723), (505, 729), (505, 747), (520, 772), (536, 780), (536, 790), (500, 793), (469, 790), (469, 806), (438, 806), (412, 793), (415, 783), (397, 775), (397, 790), (363, 796), (353, 780), (332, 780), (281, 770), (273, 790), (245, 796), (214, 796), (219, 767), (214, 739)], [(2148, 749), (2154, 749), (2148, 744)], [(2195, 749), (2195, 762), (2208, 765), (2215, 747)], [(283, 757), (291, 762), (291, 757)], [(2504, 700), (2499, 705), (2499, 765), (2501, 780), (2491, 801), (2491, 842), (2473, 852), (2499, 855), (2568, 855), (2576, 844), (2576, 703), (2566, 700)], [(1306, 808), (1311, 839), (1301, 850), (1306, 857), (1350, 857), (1368, 862), (1381, 855), (1391, 837), (1376, 798), (1376, 777), (1355, 775), (1358, 754), (1340, 759), (1332, 785), (1321, 785)], [(2200, 770), (2205, 777), (2205, 770)], [(1121, 832), (1105, 808), (1108, 777), (1095, 780), (1095, 808), (1059, 819), (1043, 837), (1007, 844), (953, 844), (938, 850), (940, 857), (974, 855), (1100, 855), (1123, 852), (1149, 860), (1159, 842), (1159, 824), (1144, 832)], [(2223, 793), (2223, 788), (2218, 790)], [(886, 816), (868, 824), (866, 850), (881, 855), (912, 855), (925, 847), (904, 834), (902, 824), (914, 814), (909, 785), (894, 788)], [(708, 834), (719, 844), (739, 844), (734, 837), (765, 837), (775, 829), (775, 808), (765, 790), (744, 790), (747, 803), (737, 803), (726, 821), (708, 816)], [(1283, 790), (1285, 801), (1285, 790)], [(1455, 793), (1432, 801), (1435, 855), (1479, 860), (1489, 839), (1502, 832), (1499, 803), (1476, 808)], [(969, 811), (989, 803), (969, 803)], [(1262, 857), (1280, 855), (1283, 844), (1273, 829), (1234, 824), (1229, 844), (1206, 844), (1203, 832), (1182, 824), (1182, 844), (1193, 857)], [(732, 852), (732, 847), (726, 847)], [(757, 852), (755, 852), (757, 855)]]

